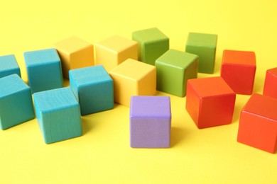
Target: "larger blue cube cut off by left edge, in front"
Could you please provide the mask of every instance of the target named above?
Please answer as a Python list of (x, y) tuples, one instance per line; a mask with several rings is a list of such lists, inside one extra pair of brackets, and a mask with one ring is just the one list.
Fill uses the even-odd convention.
[(0, 128), (21, 124), (35, 117), (31, 88), (18, 74), (0, 79)]

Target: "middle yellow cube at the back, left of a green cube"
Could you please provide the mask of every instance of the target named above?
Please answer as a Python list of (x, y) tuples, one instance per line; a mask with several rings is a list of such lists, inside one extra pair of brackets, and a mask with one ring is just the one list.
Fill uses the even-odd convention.
[(102, 64), (109, 72), (126, 59), (138, 59), (138, 42), (113, 36), (95, 44), (95, 64)]

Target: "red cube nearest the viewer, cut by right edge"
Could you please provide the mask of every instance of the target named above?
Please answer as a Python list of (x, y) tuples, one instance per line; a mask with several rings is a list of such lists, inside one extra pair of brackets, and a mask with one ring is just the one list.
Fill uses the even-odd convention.
[(241, 110), (237, 141), (274, 154), (277, 149), (277, 99), (254, 93)]

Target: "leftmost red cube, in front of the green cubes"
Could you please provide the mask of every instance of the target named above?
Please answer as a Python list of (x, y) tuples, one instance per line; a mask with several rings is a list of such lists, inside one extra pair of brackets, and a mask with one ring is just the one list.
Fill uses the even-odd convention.
[(185, 108), (199, 129), (230, 124), (235, 100), (220, 76), (188, 80)]

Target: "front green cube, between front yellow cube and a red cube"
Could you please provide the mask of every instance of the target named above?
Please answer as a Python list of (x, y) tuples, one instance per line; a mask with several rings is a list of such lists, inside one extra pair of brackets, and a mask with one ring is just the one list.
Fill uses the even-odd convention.
[(157, 90), (175, 96), (185, 96), (188, 79), (197, 78), (198, 56), (178, 50), (168, 50), (156, 60)]

